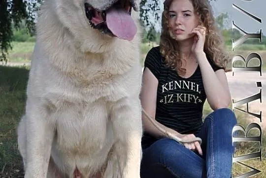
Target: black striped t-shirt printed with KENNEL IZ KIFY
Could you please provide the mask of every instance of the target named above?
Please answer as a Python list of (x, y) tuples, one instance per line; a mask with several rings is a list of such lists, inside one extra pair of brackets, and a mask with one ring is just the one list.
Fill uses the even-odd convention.
[[(214, 71), (222, 69), (208, 59)], [(197, 70), (183, 78), (166, 67), (160, 46), (153, 47), (146, 56), (144, 70), (149, 70), (158, 79), (155, 119), (180, 134), (195, 134), (202, 125), (202, 109), (206, 100), (201, 72)], [(147, 147), (156, 138), (144, 133), (142, 146)]]

